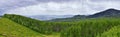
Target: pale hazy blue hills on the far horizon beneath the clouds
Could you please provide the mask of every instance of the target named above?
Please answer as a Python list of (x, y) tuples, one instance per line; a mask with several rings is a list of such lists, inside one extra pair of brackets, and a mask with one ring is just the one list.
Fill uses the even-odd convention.
[(35, 16), (29, 16), (34, 19), (38, 20), (51, 20), (56, 18), (68, 18), (73, 17), (73, 15), (35, 15)]

